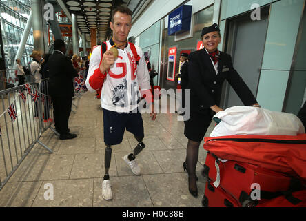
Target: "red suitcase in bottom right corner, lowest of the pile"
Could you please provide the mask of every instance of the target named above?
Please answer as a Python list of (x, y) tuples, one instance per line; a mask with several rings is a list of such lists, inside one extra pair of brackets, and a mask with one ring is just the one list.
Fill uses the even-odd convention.
[(269, 200), (257, 207), (306, 207), (306, 190), (292, 193), (292, 195), (283, 195)]

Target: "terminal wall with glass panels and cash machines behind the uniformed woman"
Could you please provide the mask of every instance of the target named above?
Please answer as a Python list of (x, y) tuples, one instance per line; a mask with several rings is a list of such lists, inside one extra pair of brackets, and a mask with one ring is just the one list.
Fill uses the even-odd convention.
[[(167, 1), (161, 8), (157, 5), (161, 2), (154, 1), (150, 7), (157, 15), (152, 15), (150, 21), (147, 19), (150, 9), (147, 10), (133, 30), (136, 44), (143, 48), (159, 73), (154, 79), (155, 85), (177, 88), (179, 56), (182, 52), (203, 48), (201, 30), (216, 22), (222, 37), (219, 50), (232, 56), (234, 68), (261, 106), (272, 111), (298, 113), (306, 101), (305, 0), (176, 2)], [(181, 21), (171, 14), (181, 6), (192, 6), (190, 30), (174, 34), (170, 28)], [(146, 24), (150, 28), (142, 30)], [(221, 106), (239, 105), (243, 105), (241, 100), (225, 83)]]

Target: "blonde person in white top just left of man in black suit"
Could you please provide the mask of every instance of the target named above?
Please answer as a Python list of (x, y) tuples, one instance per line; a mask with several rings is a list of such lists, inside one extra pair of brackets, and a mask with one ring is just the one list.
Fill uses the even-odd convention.
[[(41, 53), (37, 50), (33, 50), (32, 55), (30, 55), (30, 57), (32, 57), (33, 59), (32, 63), (30, 64), (31, 75), (34, 76), (34, 83), (38, 86), (41, 82), (41, 64), (43, 64), (45, 60), (43, 59), (43, 57), (41, 57)], [(34, 110), (35, 118), (37, 118), (39, 113), (38, 104), (36, 102), (34, 104)]]

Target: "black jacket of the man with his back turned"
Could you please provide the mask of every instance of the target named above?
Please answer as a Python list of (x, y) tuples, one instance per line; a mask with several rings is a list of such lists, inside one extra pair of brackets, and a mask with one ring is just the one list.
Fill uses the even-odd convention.
[(52, 97), (74, 96), (74, 77), (78, 77), (69, 57), (54, 52), (48, 60), (49, 92)]

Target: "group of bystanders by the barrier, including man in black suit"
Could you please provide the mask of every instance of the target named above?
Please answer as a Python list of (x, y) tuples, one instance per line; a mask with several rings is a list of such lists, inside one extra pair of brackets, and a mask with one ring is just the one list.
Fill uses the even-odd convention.
[[(21, 65), (21, 60), (17, 59), (17, 77), (19, 85), (27, 82), (37, 84), (42, 79), (49, 79), (48, 85), (41, 84), (42, 93), (51, 97), (53, 104), (55, 130), (60, 134), (61, 140), (74, 139), (75, 134), (70, 133), (68, 126), (71, 113), (72, 97), (74, 97), (74, 78), (79, 77), (80, 71), (83, 71), (84, 77), (88, 73), (89, 60), (88, 57), (80, 57), (74, 55), (72, 59), (65, 55), (65, 42), (61, 39), (54, 41), (54, 54), (41, 55), (40, 52), (34, 50), (32, 52), (32, 61), (27, 67)], [(28, 73), (26, 73), (28, 70)], [(38, 117), (37, 103), (34, 104), (35, 117)], [(43, 111), (44, 122), (52, 122), (50, 119), (49, 99), (45, 99)]]

